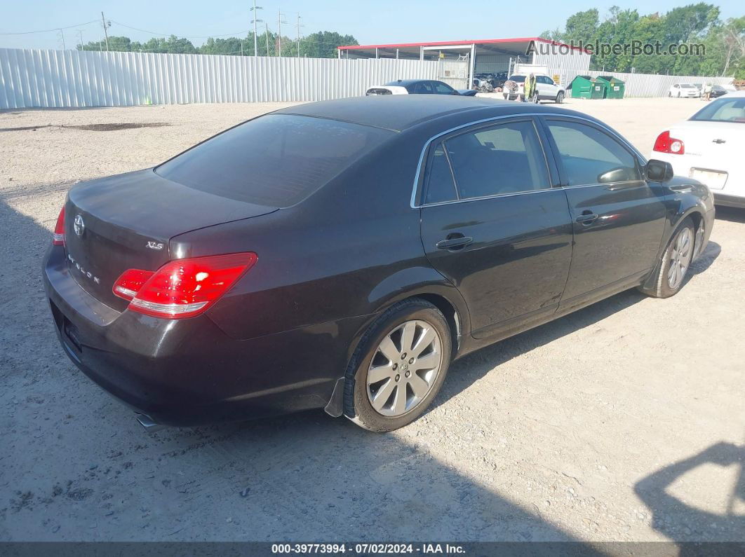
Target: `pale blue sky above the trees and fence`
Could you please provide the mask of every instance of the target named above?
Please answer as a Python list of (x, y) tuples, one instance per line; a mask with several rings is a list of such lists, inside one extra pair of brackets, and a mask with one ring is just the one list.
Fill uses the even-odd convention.
[[(276, 32), (282, 8), (282, 34), (296, 36), (294, 24), (302, 17), (305, 35), (319, 30), (351, 34), (360, 44), (423, 42), (461, 39), (498, 39), (537, 36), (563, 28), (568, 16), (597, 7), (601, 18), (609, 7), (635, 8), (641, 14), (665, 12), (696, 0), (659, 0), (651, 7), (641, 1), (558, 2), (555, 0), (257, 0), (259, 19)], [(741, 0), (710, 0), (720, 7), (723, 19), (745, 15)], [(75, 48), (80, 42), (103, 39), (101, 10), (112, 22), (110, 35), (129, 36), (144, 42), (153, 36), (186, 36), (201, 45), (206, 36), (245, 36), (253, 25), (249, 7), (253, 0), (66, 0), (7, 1), (0, 13), (0, 48)], [(129, 27), (125, 27), (129, 26)], [(263, 26), (264, 24), (259, 24)], [(52, 30), (66, 28), (62, 32)], [(139, 28), (134, 30), (132, 28)], [(263, 30), (263, 27), (259, 28)], [(48, 30), (43, 33), (5, 34)]]

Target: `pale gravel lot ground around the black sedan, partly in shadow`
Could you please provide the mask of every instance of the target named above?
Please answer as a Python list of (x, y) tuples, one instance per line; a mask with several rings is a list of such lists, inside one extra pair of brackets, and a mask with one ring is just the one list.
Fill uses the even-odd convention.
[[(676, 297), (469, 355), (393, 434), (321, 410), (146, 434), (78, 372), (39, 277), (69, 186), (279, 106), (0, 112), (0, 539), (745, 540), (745, 211), (720, 210)], [(700, 106), (568, 103), (645, 153)]]

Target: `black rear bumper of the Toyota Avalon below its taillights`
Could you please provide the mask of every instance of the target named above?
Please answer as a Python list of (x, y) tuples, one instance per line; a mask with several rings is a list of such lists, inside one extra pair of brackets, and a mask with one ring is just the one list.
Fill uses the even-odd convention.
[(365, 318), (239, 341), (209, 317), (117, 312), (70, 276), (52, 246), (43, 279), (57, 338), (90, 379), (164, 425), (200, 425), (322, 408)]

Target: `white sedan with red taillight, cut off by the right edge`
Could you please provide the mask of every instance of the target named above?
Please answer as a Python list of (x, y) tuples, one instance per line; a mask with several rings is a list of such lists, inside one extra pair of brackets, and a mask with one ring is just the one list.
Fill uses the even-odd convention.
[(737, 91), (662, 132), (650, 158), (668, 161), (678, 176), (703, 181), (717, 205), (745, 208), (744, 145), (745, 91)]

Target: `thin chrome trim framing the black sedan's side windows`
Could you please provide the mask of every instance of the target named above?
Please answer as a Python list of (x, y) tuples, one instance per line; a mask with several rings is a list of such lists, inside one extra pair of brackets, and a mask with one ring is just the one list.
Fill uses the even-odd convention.
[[(644, 164), (647, 164), (647, 159), (644, 158), (644, 155), (641, 155), (641, 152), (638, 152), (638, 150), (635, 147), (633, 147), (632, 144), (630, 144), (628, 141), (626, 141), (625, 138), (623, 138), (621, 135), (618, 135), (617, 132), (615, 132), (610, 126), (607, 126), (606, 124), (604, 124), (602, 122), (596, 122), (595, 120), (591, 120), (590, 118), (586, 118), (586, 117), (582, 117), (582, 116), (578, 116), (578, 115), (562, 115), (562, 114), (557, 114), (556, 112), (524, 112), (524, 113), (519, 114), (519, 115), (509, 114), (509, 115), (501, 115), (501, 116), (492, 116), (492, 117), (489, 117), (489, 118), (483, 118), (481, 120), (474, 120), (472, 122), (463, 123), (463, 124), (460, 124), (460, 126), (454, 126), (454, 127), (450, 128), (450, 129), (446, 129), (443, 132), (440, 132), (440, 133), (437, 133), (437, 134), (431, 136), (431, 138), (429, 138), (427, 141), (425, 141), (424, 147), (422, 147), (422, 152), (419, 154), (419, 162), (416, 164), (416, 174), (414, 175), (414, 181), (413, 181), (413, 187), (411, 189), (411, 198), (410, 198), (410, 201), (409, 201), (409, 206), (412, 209), (419, 209), (421, 207), (431, 207), (431, 206), (435, 205), (435, 204), (432, 204), (432, 203), (430, 203), (430, 204), (424, 204), (424, 203), (419, 202), (419, 199), (417, 199), (423, 193), (423, 181), (424, 181), (424, 172), (423, 172), (423, 170), (424, 169), (422, 169), (422, 163), (425, 161), (425, 158), (428, 155), (429, 148), (430, 148), (430, 146), (431, 146), (431, 144), (432, 144), (433, 141), (435, 141), (438, 138), (443, 137), (443, 135), (448, 135), (451, 132), (456, 132), (459, 129), (469, 128), (469, 127), (472, 127), (472, 126), (478, 126), (478, 125), (480, 125), (482, 123), (493, 122), (495, 120), (508, 120), (510, 118), (521, 119), (522, 117), (531, 117), (531, 118), (535, 118), (535, 119), (537, 119), (539, 121), (542, 121), (541, 120), (541, 117), (560, 117), (560, 118), (569, 118), (569, 119), (573, 119), (573, 120), (584, 120), (586, 122), (592, 123), (595, 126), (598, 126), (601, 129), (604, 129), (606, 132), (610, 132), (612, 134), (612, 137), (615, 138), (616, 141), (619, 141), (620, 140), (621, 141), (621, 144), (624, 144), (634, 155), (636, 155), (636, 157), (638, 158), (638, 162), (639, 162), (639, 164), (641, 166), (644, 166)], [(550, 138), (548, 138), (548, 139), (550, 140)], [(539, 140), (542, 140), (542, 136), (540, 134), (539, 134)], [(552, 148), (550, 150), (553, 153), (554, 147), (553, 146), (551, 146), (551, 147)], [(545, 150), (546, 150), (545, 147), (543, 147), (543, 150), (545, 152)], [(549, 164), (548, 166), (549, 166), (549, 176), (551, 176), (551, 165)], [(642, 181), (644, 181), (644, 180), (642, 179)], [(592, 185), (597, 185), (597, 184), (592, 184)], [(603, 185), (607, 185), (607, 184), (603, 184)], [(556, 190), (558, 188), (557, 187), (551, 187), (551, 188), (547, 188), (547, 190), (548, 189)], [(497, 196), (494, 196), (494, 197), (524, 195), (525, 193), (539, 193), (539, 192), (542, 192), (542, 191), (546, 191), (546, 190), (529, 190), (529, 191), (524, 192), (524, 193), (522, 193), (522, 192), (521, 193), (501, 193), (501, 194), (498, 194)], [(440, 202), (440, 204), (444, 204), (444, 203), (461, 203), (461, 202), (465, 202), (465, 201), (475, 201), (475, 200), (478, 200), (478, 199), (486, 199), (486, 198), (469, 198), (469, 199), (462, 199), (462, 200), (461, 199), (457, 199), (457, 200), (449, 201), (449, 202)]]

